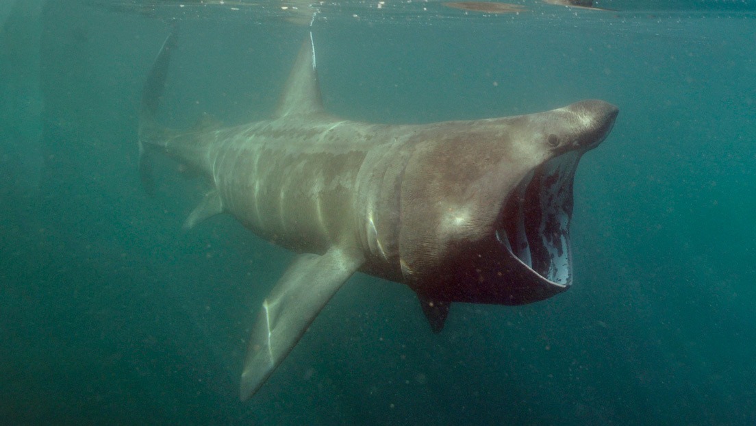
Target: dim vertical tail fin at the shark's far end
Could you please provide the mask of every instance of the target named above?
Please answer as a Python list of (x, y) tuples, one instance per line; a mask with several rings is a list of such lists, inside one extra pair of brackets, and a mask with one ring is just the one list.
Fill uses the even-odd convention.
[(176, 47), (176, 39), (177, 31), (174, 26), (170, 35), (166, 37), (166, 41), (163, 42), (163, 47), (160, 48), (160, 53), (157, 54), (142, 88), (139, 113), (139, 176), (142, 186), (150, 195), (153, 194), (155, 185), (149, 151), (151, 148), (163, 146), (166, 141), (166, 130), (157, 123), (156, 113), (160, 98), (166, 88), (168, 67), (171, 62), (171, 53)]

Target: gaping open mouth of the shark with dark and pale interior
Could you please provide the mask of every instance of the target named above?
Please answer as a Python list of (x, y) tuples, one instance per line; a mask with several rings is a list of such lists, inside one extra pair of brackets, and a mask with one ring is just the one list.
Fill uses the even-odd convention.
[[(497, 240), (541, 280), (572, 284), (572, 182), (580, 151), (559, 155), (534, 169), (510, 195)], [(541, 281), (538, 280), (538, 281)]]

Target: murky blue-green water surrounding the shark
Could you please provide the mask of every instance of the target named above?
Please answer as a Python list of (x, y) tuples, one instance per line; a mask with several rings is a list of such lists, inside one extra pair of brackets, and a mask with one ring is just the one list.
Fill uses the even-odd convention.
[(756, 424), (756, 4), (377, 4), (312, 22), (337, 116), (618, 105), (575, 180), (573, 287), (432, 334), (357, 274), (240, 403), (293, 253), (229, 216), (182, 230), (205, 187), (169, 160), (145, 194), (141, 84), (178, 23), (162, 119), (262, 120), (311, 12), (0, 0), (0, 424)]

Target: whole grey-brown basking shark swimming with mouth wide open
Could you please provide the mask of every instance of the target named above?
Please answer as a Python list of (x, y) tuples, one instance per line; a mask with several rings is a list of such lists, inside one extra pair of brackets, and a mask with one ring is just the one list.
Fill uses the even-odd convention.
[(618, 109), (588, 100), (516, 117), (358, 123), (321, 103), (311, 34), (270, 120), (179, 131), (155, 120), (175, 36), (143, 90), (141, 176), (160, 152), (210, 190), (191, 228), (229, 213), (299, 253), (259, 309), (240, 398), (253, 396), (355, 272), (417, 293), (432, 331), (452, 302), (519, 305), (572, 284), (572, 182)]

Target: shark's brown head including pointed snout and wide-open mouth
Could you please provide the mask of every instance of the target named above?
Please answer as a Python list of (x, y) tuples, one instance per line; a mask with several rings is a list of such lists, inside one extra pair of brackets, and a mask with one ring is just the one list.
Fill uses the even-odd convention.
[(472, 303), (530, 303), (568, 288), (575, 169), (617, 113), (581, 101), (439, 128), (404, 175), (407, 281), (427, 297)]

